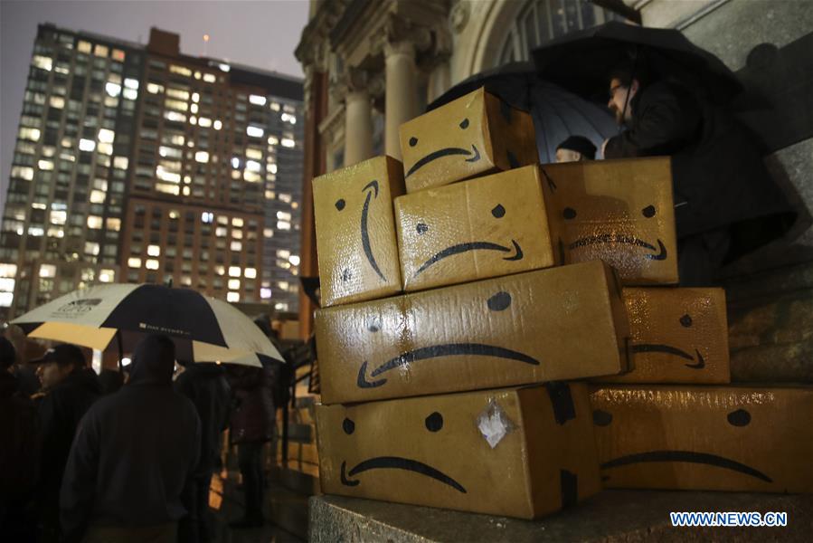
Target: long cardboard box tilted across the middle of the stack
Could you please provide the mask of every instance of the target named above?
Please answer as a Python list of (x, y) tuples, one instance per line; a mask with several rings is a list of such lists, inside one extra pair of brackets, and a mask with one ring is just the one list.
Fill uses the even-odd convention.
[(628, 370), (627, 315), (602, 262), (317, 310), (322, 402)]

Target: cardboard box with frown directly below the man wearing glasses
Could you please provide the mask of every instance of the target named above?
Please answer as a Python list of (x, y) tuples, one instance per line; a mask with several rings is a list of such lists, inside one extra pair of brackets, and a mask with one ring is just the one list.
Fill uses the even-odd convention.
[(668, 157), (546, 164), (557, 263), (600, 259), (625, 285), (677, 282), (675, 208)]

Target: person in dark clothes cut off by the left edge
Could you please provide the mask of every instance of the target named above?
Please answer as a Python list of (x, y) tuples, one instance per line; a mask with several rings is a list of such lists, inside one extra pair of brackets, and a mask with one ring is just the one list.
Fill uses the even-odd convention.
[(0, 535), (8, 541), (33, 541), (39, 421), (13, 374), (16, 357), (11, 341), (0, 337)]

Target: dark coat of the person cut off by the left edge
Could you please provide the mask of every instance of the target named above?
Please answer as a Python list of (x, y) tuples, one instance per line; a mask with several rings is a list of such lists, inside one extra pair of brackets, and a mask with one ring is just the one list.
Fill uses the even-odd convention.
[(17, 379), (0, 369), (0, 509), (33, 497), (39, 452), (39, 420)]

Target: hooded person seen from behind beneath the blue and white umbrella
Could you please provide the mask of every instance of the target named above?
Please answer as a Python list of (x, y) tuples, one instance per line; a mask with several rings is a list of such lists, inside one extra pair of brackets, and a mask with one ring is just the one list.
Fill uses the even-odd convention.
[(201, 421), (173, 388), (172, 339), (142, 339), (131, 366), (128, 384), (90, 408), (71, 447), (60, 496), (66, 540), (196, 541)]

